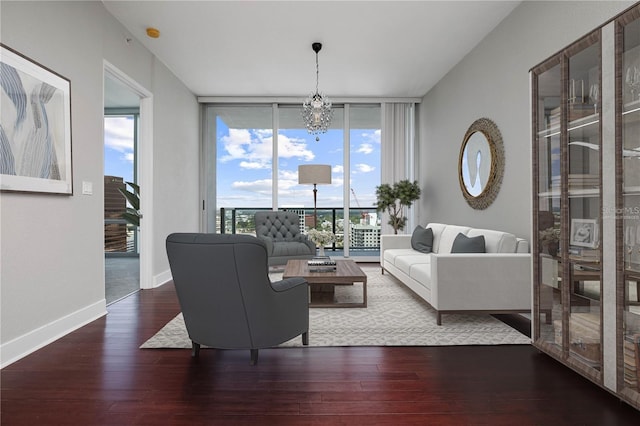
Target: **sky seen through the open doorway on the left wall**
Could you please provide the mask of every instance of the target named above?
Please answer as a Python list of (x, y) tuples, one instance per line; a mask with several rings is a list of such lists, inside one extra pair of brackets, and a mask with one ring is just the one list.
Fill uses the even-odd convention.
[(104, 175), (133, 182), (133, 116), (104, 120)]

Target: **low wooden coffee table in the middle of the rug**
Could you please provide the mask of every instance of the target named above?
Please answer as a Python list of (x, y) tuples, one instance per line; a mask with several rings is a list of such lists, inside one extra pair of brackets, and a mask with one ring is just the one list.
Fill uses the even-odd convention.
[[(306, 260), (289, 260), (282, 278), (293, 277), (302, 277), (309, 283), (310, 308), (367, 307), (367, 274), (353, 260), (336, 260), (336, 270), (332, 272), (311, 272)], [(336, 286), (355, 283), (362, 283), (362, 303), (337, 303)]]

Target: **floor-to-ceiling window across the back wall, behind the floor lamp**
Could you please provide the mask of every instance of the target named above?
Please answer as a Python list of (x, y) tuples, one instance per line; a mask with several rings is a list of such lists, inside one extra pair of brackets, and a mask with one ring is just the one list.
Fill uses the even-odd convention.
[(336, 105), (333, 110), (330, 129), (316, 140), (303, 126), (299, 105), (208, 106), (205, 229), (253, 233), (255, 211), (276, 208), (296, 209), (303, 223), (312, 224), (313, 186), (298, 184), (298, 166), (326, 164), (332, 182), (317, 187), (317, 227), (339, 235), (335, 252), (375, 256), (380, 105)]

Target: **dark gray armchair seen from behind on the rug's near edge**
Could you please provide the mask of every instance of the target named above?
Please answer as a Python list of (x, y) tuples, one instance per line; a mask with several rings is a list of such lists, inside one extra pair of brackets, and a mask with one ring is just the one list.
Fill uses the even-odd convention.
[(267, 247), (252, 235), (175, 233), (167, 256), (192, 342), (217, 349), (258, 349), (302, 335), (308, 344), (309, 290), (303, 278), (271, 282)]

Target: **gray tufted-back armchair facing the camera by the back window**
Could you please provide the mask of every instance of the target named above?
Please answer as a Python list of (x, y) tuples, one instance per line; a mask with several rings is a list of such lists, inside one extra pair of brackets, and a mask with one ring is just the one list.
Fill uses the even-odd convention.
[(259, 211), (254, 216), (256, 236), (267, 246), (269, 266), (286, 265), (289, 259), (311, 259), (316, 245), (300, 232), (300, 218), (288, 211)]

